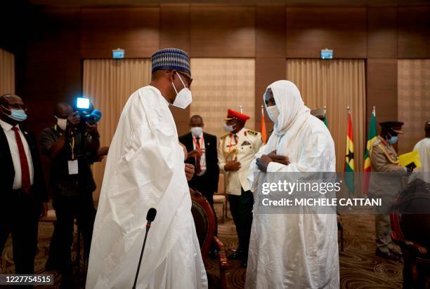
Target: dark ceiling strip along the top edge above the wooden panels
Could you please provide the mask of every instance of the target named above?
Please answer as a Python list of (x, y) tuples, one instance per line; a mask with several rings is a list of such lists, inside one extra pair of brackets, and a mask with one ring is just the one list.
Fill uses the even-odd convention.
[(53, 7), (139, 7), (160, 4), (237, 4), (286, 6), (419, 6), (430, 0), (30, 0), (32, 4)]

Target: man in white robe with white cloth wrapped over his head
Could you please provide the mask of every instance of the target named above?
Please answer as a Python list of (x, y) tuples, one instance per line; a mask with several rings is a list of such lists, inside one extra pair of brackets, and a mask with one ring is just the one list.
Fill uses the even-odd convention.
[[(332, 136), (310, 114), (294, 83), (272, 83), (263, 100), (274, 130), (249, 169), (254, 199), (259, 199), (256, 188), (268, 181), (269, 173), (294, 178), (294, 173), (335, 172)], [(335, 213), (272, 214), (259, 209), (256, 201), (246, 288), (339, 288)]]

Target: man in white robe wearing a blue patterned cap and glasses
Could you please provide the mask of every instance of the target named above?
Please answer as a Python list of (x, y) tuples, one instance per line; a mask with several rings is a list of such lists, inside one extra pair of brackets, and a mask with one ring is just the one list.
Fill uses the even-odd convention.
[(163, 49), (152, 55), (150, 86), (126, 102), (107, 155), (86, 288), (132, 288), (149, 208), (157, 217), (136, 288), (207, 288), (184, 151), (169, 110), (190, 104), (191, 81), (188, 54)]

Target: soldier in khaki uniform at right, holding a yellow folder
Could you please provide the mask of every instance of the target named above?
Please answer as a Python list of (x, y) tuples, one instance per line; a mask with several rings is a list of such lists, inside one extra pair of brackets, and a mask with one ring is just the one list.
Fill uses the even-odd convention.
[(402, 177), (412, 172), (412, 168), (400, 166), (393, 144), (397, 142), (403, 122), (386, 121), (379, 123), (381, 134), (374, 140), (370, 149), (372, 175), (370, 177), (369, 196), (381, 198), (382, 207), (375, 215), (376, 255), (391, 260), (398, 260), (401, 253), (396, 250), (391, 241), (391, 223), (389, 209), (401, 189)]

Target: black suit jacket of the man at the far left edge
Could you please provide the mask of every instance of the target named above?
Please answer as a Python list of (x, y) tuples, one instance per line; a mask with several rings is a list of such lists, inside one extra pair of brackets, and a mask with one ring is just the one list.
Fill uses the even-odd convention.
[[(21, 129), (22, 130), (22, 129)], [(22, 133), (30, 147), (30, 154), (33, 162), (33, 185), (30, 194), (34, 196), (35, 201), (48, 201), (45, 180), (41, 168), (39, 149), (37, 147), (36, 137), (34, 134), (22, 130)], [(9, 149), (8, 140), (3, 128), (0, 127), (0, 203), (6, 201), (12, 196), (13, 179), (15, 178), (15, 168), (13, 167), (11, 150)]]

